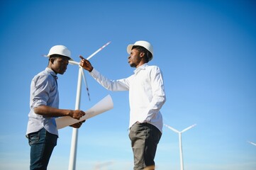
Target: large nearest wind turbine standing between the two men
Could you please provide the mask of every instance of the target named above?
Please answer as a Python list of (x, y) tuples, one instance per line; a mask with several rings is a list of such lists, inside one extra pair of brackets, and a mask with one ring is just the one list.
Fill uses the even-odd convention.
[[(91, 57), (96, 55), (99, 51), (104, 49), (110, 42), (106, 43), (106, 45), (99, 48), (99, 50), (96, 50), (93, 54), (91, 54), (89, 57), (87, 57), (87, 60), (89, 60)], [(84, 77), (84, 71), (83, 68), (79, 65), (79, 62), (69, 61), (70, 64), (76, 64), (79, 66), (79, 72), (78, 72), (78, 79), (77, 79), (77, 97), (76, 97), (76, 103), (75, 103), (75, 110), (79, 110), (80, 108), (80, 98), (81, 98), (81, 86), (82, 86), (82, 77), (84, 78), (84, 83), (87, 86), (87, 81)], [(87, 94), (89, 96), (89, 89), (87, 86)], [(90, 98), (89, 98), (90, 100)], [(78, 136), (78, 129), (73, 128), (72, 131), (72, 140), (71, 140), (71, 148), (70, 148), (70, 155), (69, 155), (69, 170), (75, 170), (76, 169), (76, 159), (77, 159), (77, 136)]]

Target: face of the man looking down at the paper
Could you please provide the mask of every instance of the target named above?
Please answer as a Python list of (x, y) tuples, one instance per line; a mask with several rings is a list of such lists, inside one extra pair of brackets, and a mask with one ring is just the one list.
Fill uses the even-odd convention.
[(52, 63), (52, 70), (56, 74), (64, 74), (69, 64), (68, 57), (57, 57)]

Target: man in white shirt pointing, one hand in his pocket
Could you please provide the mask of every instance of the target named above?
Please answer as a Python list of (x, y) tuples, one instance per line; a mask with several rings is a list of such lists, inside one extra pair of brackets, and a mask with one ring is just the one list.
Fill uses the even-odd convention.
[(133, 148), (134, 170), (155, 169), (155, 153), (162, 136), (160, 108), (165, 103), (162, 72), (148, 62), (153, 57), (153, 47), (147, 41), (128, 45), (128, 63), (135, 67), (134, 74), (126, 79), (110, 80), (100, 74), (82, 56), (80, 65), (110, 91), (129, 91), (129, 137)]

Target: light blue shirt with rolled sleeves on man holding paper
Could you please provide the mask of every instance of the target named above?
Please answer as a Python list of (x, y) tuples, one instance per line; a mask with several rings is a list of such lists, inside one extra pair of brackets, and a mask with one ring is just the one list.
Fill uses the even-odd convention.
[(37, 74), (30, 84), (30, 113), (28, 113), (28, 128), (26, 135), (45, 128), (48, 132), (58, 135), (55, 118), (38, 115), (34, 108), (50, 106), (59, 108), (59, 92), (57, 89), (57, 76), (50, 68)]

